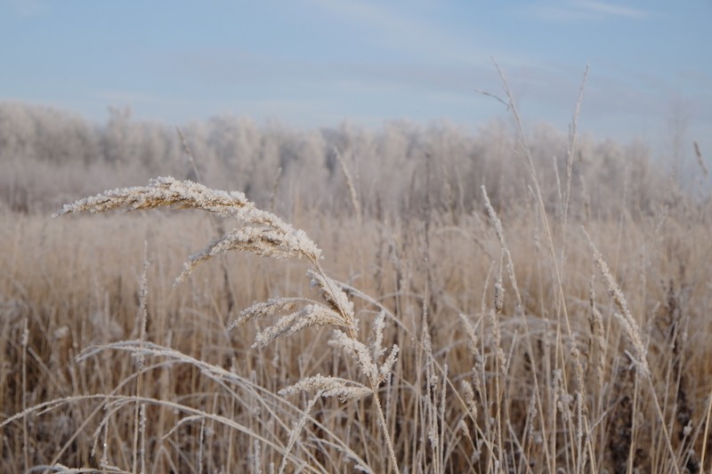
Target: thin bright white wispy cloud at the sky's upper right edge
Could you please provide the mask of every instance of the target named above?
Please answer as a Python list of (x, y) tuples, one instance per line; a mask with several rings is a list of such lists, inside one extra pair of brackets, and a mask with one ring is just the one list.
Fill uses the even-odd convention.
[(550, 21), (642, 20), (651, 15), (651, 12), (640, 8), (599, 2), (597, 0), (539, 2), (524, 7), (523, 12), (534, 14), (540, 19)]

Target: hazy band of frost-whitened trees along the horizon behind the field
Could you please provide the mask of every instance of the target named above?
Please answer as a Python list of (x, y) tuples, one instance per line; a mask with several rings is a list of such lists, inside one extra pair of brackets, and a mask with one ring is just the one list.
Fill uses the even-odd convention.
[[(275, 193), (276, 211), (295, 205), (346, 213), (351, 203), (336, 153), (354, 177), (368, 216), (408, 216), (437, 210), (457, 216), (480, 208), (481, 185), (494, 205), (521, 208), (528, 172), (514, 126), (493, 119), (475, 131), (448, 122), (405, 120), (370, 129), (341, 125), (297, 130), (214, 116), (181, 125), (207, 186), (239, 189), (259, 205)], [(529, 130), (530, 150), (555, 212), (566, 174), (568, 134), (551, 125)], [(36, 212), (102, 189), (158, 175), (196, 179), (174, 125), (134, 120), (129, 108), (109, 108), (104, 124), (21, 102), (0, 102), (0, 209)], [(651, 213), (682, 198), (665, 164), (639, 141), (579, 136), (572, 200), (578, 213)], [(666, 192), (662, 192), (667, 189)]]

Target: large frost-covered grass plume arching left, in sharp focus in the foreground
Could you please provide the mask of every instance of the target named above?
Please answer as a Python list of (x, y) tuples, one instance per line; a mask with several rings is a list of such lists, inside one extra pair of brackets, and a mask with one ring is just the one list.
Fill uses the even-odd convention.
[[(279, 316), (277, 321), (257, 333), (254, 348), (262, 348), (272, 341), (295, 334), (310, 326), (330, 326), (334, 329), (331, 345), (351, 356), (368, 380), (368, 385), (358, 381), (332, 376), (306, 377), (280, 390), (280, 395), (290, 395), (308, 390), (322, 397), (338, 397), (342, 400), (373, 397), (376, 415), (384, 434), (384, 441), (390, 455), (392, 470), (399, 472), (398, 461), (388, 434), (385, 415), (378, 396), (378, 388), (392, 373), (399, 348), (393, 345), (385, 356), (384, 312), (373, 322), (372, 343), (367, 346), (358, 338), (359, 328), (353, 311), (353, 303), (344, 289), (328, 277), (320, 265), (321, 250), (302, 229), (295, 229), (273, 213), (258, 209), (247, 197), (238, 191), (222, 191), (206, 188), (192, 181), (177, 181), (173, 178), (157, 178), (148, 186), (113, 189), (93, 197), (85, 197), (77, 202), (64, 205), (55, 216), (67, 213), (101, 213), (117, 208), (129, 211), (173, 207), (176, 209), (199, 209), (215, 213), (240, 222), (239, 227), (225, 233), (198, 253), (190, 255), (185, 262), (176, 283), (181, 283), (198, 264), (210, 260), (215, 255), (232, 250), (255, 253), (261, 257), (276, 259), (301, 259), (309, 261), (313, 269), (307, 275), (312, 286), (320, 292), (321, 301), (309, 298), (279, 298), (253, 304), (244, 309), (232, 322), (233, 330), (253, 318)], [(379, 364), (379, 361), (383, 360)], [(290, 434), (294, 443), (303, 423), (297, 423)], [(285, 454), (285, 458), (288, 453)], [(282, 462), (280, 471), (286, 468)]]

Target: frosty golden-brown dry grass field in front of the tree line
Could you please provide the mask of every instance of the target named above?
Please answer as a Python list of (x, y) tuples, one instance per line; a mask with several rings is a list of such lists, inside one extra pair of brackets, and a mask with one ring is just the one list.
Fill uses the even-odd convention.
[(518, 158), (294, 228), (171, 180), (0, 209), (0, 470), (709, 472), (712, 204)]

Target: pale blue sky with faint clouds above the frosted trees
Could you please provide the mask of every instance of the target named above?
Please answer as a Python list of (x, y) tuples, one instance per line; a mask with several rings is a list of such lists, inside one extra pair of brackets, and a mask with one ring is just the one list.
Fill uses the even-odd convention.
[(712, 0), (0, 0), (0, 100), (185, 124), (507, 117), (712, 157)]

